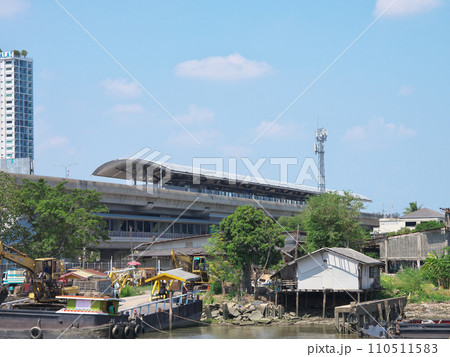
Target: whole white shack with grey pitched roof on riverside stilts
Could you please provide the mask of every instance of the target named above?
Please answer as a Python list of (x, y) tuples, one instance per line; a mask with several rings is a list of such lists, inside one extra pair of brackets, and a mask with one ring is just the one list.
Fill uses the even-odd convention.
[[(308, 295), (316, 302), (317, 293), (322, 294), (322, 315), (325, 316), (327, 294), (332, 296), (333, 308), (336, 297), (345, 301), (354, 296), (359, 302), (361, 293), (380, 290), (380, 266), (382, 263), (351, 248), (322, 248), (300, 257), (277, 271), (275, 280), (275, 301), (283, 301), (287, 307), (288, 299), (295, 295), (298, 315), (299, 301), (302, 298), (308, 308)], [(348, 302), (347, 302), (348, 303)]]

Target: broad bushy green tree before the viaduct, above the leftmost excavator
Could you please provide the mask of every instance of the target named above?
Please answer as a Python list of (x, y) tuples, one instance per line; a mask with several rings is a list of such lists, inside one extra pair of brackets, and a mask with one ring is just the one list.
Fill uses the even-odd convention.
[(46, 181), (23, 180), (19, 192), (27, 234), (15, 245), (30, 256), (76, 258), (107, 240), (106, 222), (96, 213), (107, 212), (95, 190), (73, 189), (65, 182), (50, 187)]

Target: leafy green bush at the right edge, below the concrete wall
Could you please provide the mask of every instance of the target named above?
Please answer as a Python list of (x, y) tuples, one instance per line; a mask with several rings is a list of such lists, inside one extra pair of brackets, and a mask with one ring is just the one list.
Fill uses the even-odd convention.
[(450, 287), (450, 247), (445, 247), (441, 256), (435, 251), (428, 253), (421, 273), (434, 285), (448, 289)]

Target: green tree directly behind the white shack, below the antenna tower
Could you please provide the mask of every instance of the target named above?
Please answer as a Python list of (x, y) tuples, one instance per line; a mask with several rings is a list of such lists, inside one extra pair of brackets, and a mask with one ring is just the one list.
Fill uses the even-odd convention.
[(311, 196), (303, 219), (308, 251), (324, 247), (356, 248), (357, 242), (365, 237), (358, 221), (363, 207), (361, 200), (349, 192)]

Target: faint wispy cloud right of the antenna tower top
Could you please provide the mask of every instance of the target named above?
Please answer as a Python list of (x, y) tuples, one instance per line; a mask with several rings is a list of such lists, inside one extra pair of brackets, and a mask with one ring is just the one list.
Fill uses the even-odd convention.
[(370, 120), (366, 125), (357, 125), (347, 130), (344, 141), (359, 147), (379, 147), (395, 140), (416, 136), (417, 133), (403, 124), (386, 123), (383, 118)]

